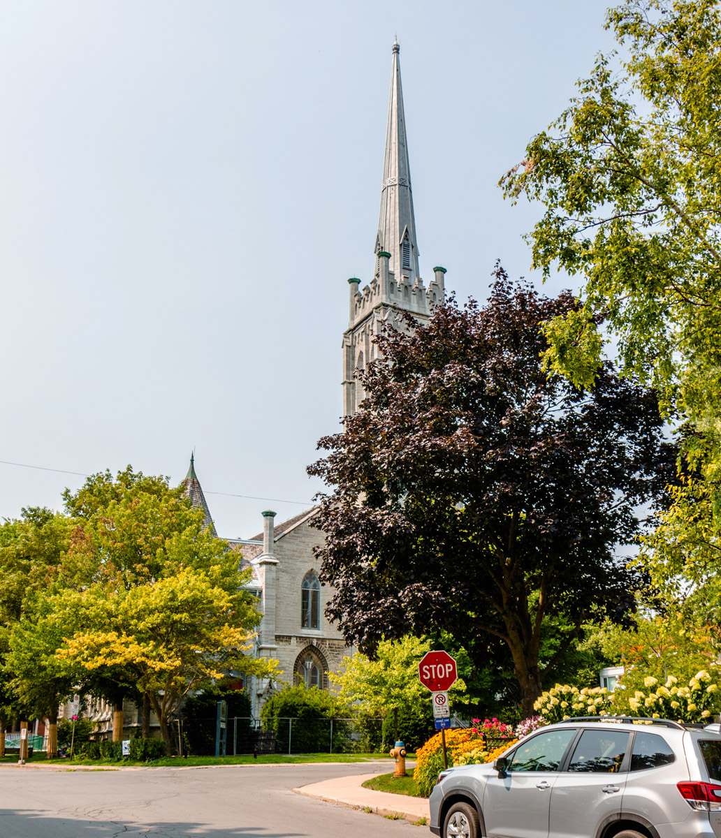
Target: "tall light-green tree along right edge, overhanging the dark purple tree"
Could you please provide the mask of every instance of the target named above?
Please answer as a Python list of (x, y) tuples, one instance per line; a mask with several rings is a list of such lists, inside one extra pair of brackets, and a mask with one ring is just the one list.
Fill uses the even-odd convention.
[(548, 318), (549, 369), (590, 386), (603, 335), (621, 370), (650, 381), (687, 422), (682, 484), (648, 569), (692, 588), (713, 617), (721, 558), (721, 9), (715, 0), (625, 0), (620, 54), (600, 55), (578, 96), (504, 178), (545, 212), (533, 265), (582, 277), (583, 304)]

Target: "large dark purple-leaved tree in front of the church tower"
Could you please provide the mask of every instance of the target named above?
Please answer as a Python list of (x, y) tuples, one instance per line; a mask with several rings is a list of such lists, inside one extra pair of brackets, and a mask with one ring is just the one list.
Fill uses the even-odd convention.
[(542, 369), (538, 323), (574, 308), (498, 269), (485, 308), (448, 303), (382, 336), (366, 400), (309, 468), (333, 488), (318, 554), (345, 636), (372, 654), (383, 636), (445, 630), (479, 666), (501, 645), (526, 716), (584, 623), (633, 608), (615, 549), (673, 474), (653, 393), (609, 365), (590, 391)]

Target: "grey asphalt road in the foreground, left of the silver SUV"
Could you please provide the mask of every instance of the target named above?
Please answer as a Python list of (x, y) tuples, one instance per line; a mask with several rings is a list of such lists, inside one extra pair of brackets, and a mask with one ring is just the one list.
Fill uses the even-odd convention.
[(0, 838), (425, 838), (427, 826), (346, 809), (291, 789), (391, 763), (126, 768), (0, 768)]

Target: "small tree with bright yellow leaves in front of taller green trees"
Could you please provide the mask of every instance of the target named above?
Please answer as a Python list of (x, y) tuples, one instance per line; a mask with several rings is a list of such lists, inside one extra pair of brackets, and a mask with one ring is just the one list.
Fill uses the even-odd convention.
[[(170, 747), (169, 716), (191, 690), (219, 680), (228, 670), (276, 675), (274, 661), (246, 654), (252, 649), (257, 614), (252, 604), (219, 582), (220, 567), (179, 569), (177, 574), (125, 589), (95, 584), (52, 597), (49, 620), (75, 615), (75, 632), (56, 659), (89, 675), (132, 682), (153, 706)], [(244, 574), (234, 573), (236, 583)], [(47, 632), (39, 623), (36, 633)], [(115, 675), (114, 675), (115, 674)]]

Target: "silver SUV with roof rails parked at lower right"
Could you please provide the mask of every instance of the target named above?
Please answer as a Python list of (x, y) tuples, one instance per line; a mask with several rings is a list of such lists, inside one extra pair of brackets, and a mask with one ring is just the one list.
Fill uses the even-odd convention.
[(590, 716), (543, 727), (495, 763), (448, 768), (443, 838), (721, 838), (721, 727)]

